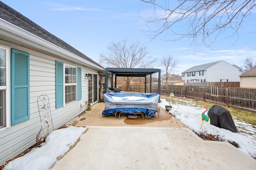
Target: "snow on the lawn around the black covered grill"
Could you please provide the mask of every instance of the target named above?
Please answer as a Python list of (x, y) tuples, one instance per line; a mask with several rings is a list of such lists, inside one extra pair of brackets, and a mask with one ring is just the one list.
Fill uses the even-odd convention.
[[(161, 99), (161, 102), (158, 103), (162, 108), (165, 109), (166, 105), (169, 103), (165, 99)], [(236, 142), (238, 148), (245, 152), (246, 154), (256, 158), (256, 129), (252, 125), (238, 121), (235, 117), (233, 121), (236, 125), (238, 133), (231, 132), (224, 128), (219, 128), (214, 125), (210, 125), (210, 120), (208, 122), (204, 121), (202, 125), (202, 112), (205, 111), (202, 107), (197, 107), (194, 102), (184, 101), (186, 105), (175, 103), (170, 103), (173, 106), (172, 110), (169, 111), (174, 115), (179, 121), (184, 123), (190, 130), (194, 131), (197, 134), (212, 134), (214, 136), (219, 136), (224, 141)], [(208, 112), (205, 114), (207, 115)], [(200, 129), (202, 125), (202, 128)]]

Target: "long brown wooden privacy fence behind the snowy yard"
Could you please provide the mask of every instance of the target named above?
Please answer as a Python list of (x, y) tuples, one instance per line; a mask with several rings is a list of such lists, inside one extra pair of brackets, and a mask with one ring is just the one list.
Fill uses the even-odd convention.
[[(131, 85), (130, 91), (144, 92), (144, 85)], [(150, 86), (147, 86), (150, 92)], [(158, 85), (152, 85), (152, 93), (158, 93)], [(160, 94), (188, 97), (256, 112), (256, 89), (233, 87), (198, 87), (161, 85)]]

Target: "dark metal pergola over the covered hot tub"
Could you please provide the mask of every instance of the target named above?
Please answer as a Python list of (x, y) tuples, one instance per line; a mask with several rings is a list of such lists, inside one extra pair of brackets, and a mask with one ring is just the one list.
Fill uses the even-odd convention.
[[(147, 91), (147, 75), (150, 75), (150, 93), (152, 93), (152, 74), (158, 73), (158, 94), (160, 95), (161, 86), (161, 69), (135, 69), (135, 68), (105, 68), (105, 90), (107, 91), (108, 86), (108, 72), (111, 73), (112, 77), (115, 75), (115, 87), (116, 77), (145, 77), (145, 93)], [(111, 87), (113, 86), (113, 79), (111, 79)]]

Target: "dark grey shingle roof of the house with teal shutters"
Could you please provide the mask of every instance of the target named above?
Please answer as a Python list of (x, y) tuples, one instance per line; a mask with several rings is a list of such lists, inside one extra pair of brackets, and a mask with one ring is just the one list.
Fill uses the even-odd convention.
[[(91, 63), (94, 63), (95, 65), (102, 67), (100, 64), (96, 63), (95, 61), (93, 61), (92, 59), (90, 59), (89, 57), (87, 57), (86, 55), (84, 55), (83, 53), (81, 53), (80, 51), (78, 51), (77, 49), (75, 49), (74, 47), (69, 45), (68, 43), (66, 43), (63, 40), (61, 40), (60, 38), (54, 36), (50, 32), (44, 30), (42, 27), (40, 27), (36, 23), (32, 22), (31, 20), (29, 20), (28, 18), (26, 18), (25, 16), (23, 16), (16, 10), (10, 8), (9, 6), (7, 6), (6, 4), (4, 4), (1, 1), (0, 1), (0, 18), (8, 21), (8, 22), (50, 42), (50, 43), (53, 43), (54, 45), (57, 45), (58, 47), (61, 47), (62, 49), (65, 49), (65, 50), (67, 50), (67, 51), (87, 60), (87, 61), (90, 61)], [(104, 67), (102, 67), (102, 68), (104, 68)]]

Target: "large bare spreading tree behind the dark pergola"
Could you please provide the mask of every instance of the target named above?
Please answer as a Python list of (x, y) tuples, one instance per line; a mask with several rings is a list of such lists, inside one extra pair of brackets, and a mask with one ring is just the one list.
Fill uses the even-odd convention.
[[(128, 39), (108, 46), (107, 53), (100, 54), (101, 61), (108, 66), (117, 68), (148, 68), (156, 59), (148, 56), (146, 47), (140, 43), (128, 43)], [(124, 78), (126, 90), (129, 89), (132, 77)]]

